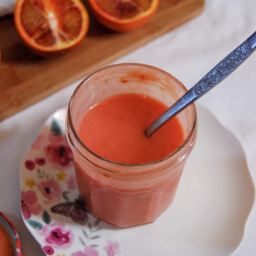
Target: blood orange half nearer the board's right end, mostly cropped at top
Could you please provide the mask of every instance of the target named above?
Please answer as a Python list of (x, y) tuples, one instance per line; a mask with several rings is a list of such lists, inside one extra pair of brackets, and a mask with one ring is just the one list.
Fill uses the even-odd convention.
[(155, 14), (159, 0), (89, 0), (98, 21), (114, 31), (145, 25)]

